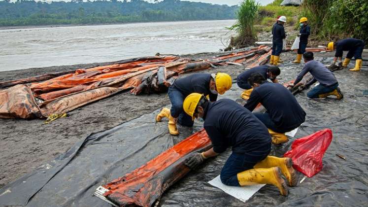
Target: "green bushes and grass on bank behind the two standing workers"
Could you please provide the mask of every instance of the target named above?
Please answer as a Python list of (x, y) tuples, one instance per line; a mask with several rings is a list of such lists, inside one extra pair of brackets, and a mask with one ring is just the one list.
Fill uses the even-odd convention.
[[(237, 24), (230, 29), (239, 29), (238, 25), (244, 24), (240, 28), (255, 28), (256, 32), (270, 32), (272, 25), (278, 16), (286, 16), (285, 26), (293, 26), (295, 33), (299, 30), (299, 19), (308, 18), (311, 26), (310, 39), (320, 43), (327, 43), (348, 37), (363, 39), (368, 43), (368, 1), (367, 0), (303, 0), (302, 5), (281, 6), (283, 0), (274, 0), (265, 6), (259, 6), (254, 0), (243, 0), (237, 11)], [(254, 11), (257, 4), (257, 11)], [(250, 6), (252, 5), (252, 6)], [(245, 15), (243, 10), (256, 15)], [(251, 20), (241, 21), (243, 18)], [(244, 23), (245, 22), (245, 23)], [(254, 30), (253, 30), (254, 31)], [(237, 30), (237, 35), (231, 38), (227, 48), (239, 48), (248, 46), (253, 42), (242, 42), (239, 39), (251, 39), (256, 35), (244, 34), (242, 30)], [(254, 33), (253, 33), (254, 34)], [(288, 36), (294, 40), (296, 34)]]

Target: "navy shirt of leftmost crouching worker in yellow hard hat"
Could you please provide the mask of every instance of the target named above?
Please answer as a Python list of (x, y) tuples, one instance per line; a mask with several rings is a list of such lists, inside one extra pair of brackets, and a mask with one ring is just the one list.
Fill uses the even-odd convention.
[(185, 78), (175, 80), (172, 87), (175, 87), (180, 91), (184, 97), (187, 97), (191, 93), (209, 95), (209, 100), (214, 102), (217, 100), (217, 94), (211, 93), (209, 90), (209, 82), (211, 80), (211, 74), (201, 73), (189, 75)]

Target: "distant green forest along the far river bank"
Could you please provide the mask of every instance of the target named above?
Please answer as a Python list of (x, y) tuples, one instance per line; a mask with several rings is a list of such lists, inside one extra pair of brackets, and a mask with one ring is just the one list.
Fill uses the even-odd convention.
[(0, 26), (234, 19), (237, 6), (180, 0), (0, 1)]

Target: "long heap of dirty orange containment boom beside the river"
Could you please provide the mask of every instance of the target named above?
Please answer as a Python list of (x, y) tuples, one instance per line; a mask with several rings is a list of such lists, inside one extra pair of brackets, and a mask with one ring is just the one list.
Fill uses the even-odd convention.
[(211, 60), (141, 57), (108, 66), (6, 81), (0, 87), (18, 85), (0, 91), (0, 118), (31, 119), (63, 114), (125, 90), (135, 95), (166, 92), (182, 73), (209, 69), (216, 64), (227, 65), (231, 61), (234, 61), (231, 64), (264, 64), (269, 51), (269, 47), (261, 45)]

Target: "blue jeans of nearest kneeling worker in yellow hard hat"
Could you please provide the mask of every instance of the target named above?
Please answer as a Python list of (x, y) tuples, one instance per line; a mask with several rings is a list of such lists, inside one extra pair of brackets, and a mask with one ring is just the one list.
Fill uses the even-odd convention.
[(271, 151), (271, 140), (269, 144), (261, 147), (259, 151), (247, 153), (232, 153), (221, 170), (220, 179), (225, 185), (240, 186), (237, 173), (253, 169), (253, 167), (264, 160)]

